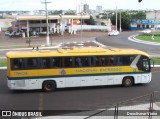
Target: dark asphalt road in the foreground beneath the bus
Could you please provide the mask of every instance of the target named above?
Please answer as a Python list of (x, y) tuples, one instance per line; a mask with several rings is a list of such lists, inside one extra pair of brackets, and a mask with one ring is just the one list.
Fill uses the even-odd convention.
[[(152, 81), (145, 85), (102, 86), (57, 89), (46, 93), (42, 90), (10, 91), (6, 84), (6, 70), (0, 70), (1, 110), (95, 110), (110, 108), (122, 101), (160, 91), (159, 73), (153, 72)], [(160, 93), (155, 94), (160, 101)], [(149, 102), (150, 96), (125, 102), (123, 105)]]

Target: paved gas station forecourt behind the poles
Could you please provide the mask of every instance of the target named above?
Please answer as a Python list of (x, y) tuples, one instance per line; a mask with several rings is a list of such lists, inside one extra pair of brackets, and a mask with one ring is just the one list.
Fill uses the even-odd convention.
[[(93, 31), (93, 32), (82, 32), (82, 35), (80, 32), (77, 32), (75, 35), (70, 35), (68, 33), (65, 33), (64, 36), (62, 35), (53, 35), (50, 36), (50, 44), (60, 44), (60, 43), (67, 43), (67, 42), (84, 42), (86, 39), (89, 38), (95, 38), (98, 36), (106, 35), (106, 32), (102, 31)], [(40, 37), (31, 37), (31, 45), (45, 45), (46, 43), (46, 37), (40, 36)], [(8, 36), (4, 36), (4, 33), (0, 36), (0, 48), (4, 46), (28, 46), (28, 43), (26, 43), (27, 38), (17, 37), (17, 38), (10, 38)], [(88, 41), (88, 40), (87, 40)], [(75, 45), (75, 43), (73, 43)], [(73, 45), (72, 44), (72, 45)], [(80, 44), (79, 44), (80, 45)]]

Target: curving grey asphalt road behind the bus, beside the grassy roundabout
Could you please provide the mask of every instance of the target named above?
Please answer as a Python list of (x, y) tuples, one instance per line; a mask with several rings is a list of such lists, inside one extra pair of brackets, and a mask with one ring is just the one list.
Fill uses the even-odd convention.
[(118, 48), (134, 48), (134, 49), (145, 51), (150, 54), (160, 55), (160, 46), (137, 43), (137, 42), (128, 40), (129, 36), (132, 36), (135, 34), (140, 34), (140, 32), (137, 32), (137, 31), (121, 32), (118, 36), (103, 35), (103, 36), (99, 36), (97, 38), (97, 41), (107, 46), (118, 47)]

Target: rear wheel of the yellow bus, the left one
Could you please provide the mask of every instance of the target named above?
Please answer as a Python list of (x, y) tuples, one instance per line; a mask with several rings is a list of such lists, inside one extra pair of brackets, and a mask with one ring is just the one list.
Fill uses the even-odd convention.
[(56, 85), (54, 81), (45, 81), (42, 85), (42, 89), (46, 92), (51, 92), (56, 89)]

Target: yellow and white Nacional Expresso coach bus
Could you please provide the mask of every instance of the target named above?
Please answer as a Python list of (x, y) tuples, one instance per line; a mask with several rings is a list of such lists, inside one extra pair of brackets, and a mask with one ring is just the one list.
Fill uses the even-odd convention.
[(134, 49), (101, 47), (10, 51), (7, 81), (11, 90), (145, 84), (151, 81), (149, 55)]

